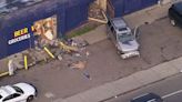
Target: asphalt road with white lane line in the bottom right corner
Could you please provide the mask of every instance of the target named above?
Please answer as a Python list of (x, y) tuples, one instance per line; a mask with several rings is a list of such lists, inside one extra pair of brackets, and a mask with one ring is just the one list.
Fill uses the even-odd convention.
[(160, 82), (150, 84), (118, 98), (110, 99), (104, 102), (130, 102), (132, 98), (141, 94), (153, 92), (163, 98), (164, 102), (182, 102), (182, 74), (168, 78)]

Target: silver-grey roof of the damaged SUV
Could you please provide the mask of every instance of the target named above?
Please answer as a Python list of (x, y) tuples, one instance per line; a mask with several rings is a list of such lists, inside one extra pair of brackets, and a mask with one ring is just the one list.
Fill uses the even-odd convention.
[(125, 21), (122, 18), (114, 18), (112, 19), (112, 23), (114, 24), (115, 29), (124, 28), (127, 27)]

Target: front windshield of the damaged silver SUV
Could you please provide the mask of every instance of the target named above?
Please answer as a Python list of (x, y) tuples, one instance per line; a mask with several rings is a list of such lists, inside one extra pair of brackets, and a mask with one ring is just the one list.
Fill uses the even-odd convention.
[(118, 35), (119, 41), (121, 41), (122, 43), (127, 43), (129, 41), (134, 40), (134, 37), (131, 33), (121, 33)]

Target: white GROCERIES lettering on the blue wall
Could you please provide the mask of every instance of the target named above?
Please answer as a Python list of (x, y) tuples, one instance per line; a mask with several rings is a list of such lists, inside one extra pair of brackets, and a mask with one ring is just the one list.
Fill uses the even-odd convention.
[(11, 39), (11, 40), (8, 41), (8, 44), (13, 44), (13, 43), (27, 40), (27, 39), (30, 39), (30, 33), (18, 37), (18, 38), (14, 38), (14, 39)]

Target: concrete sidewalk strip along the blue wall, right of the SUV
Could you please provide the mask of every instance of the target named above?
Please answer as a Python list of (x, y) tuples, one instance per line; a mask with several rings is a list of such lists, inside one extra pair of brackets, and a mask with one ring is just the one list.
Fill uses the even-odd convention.
[(142, 24), (150, 24), (155, 20), (168, 17), (168, 10), (172, 3), (165, 3), (163, 6), (155, 4), (153, 7), (136, 11), (134, 13), (123, 17), (131, 28), (140, 27)]

